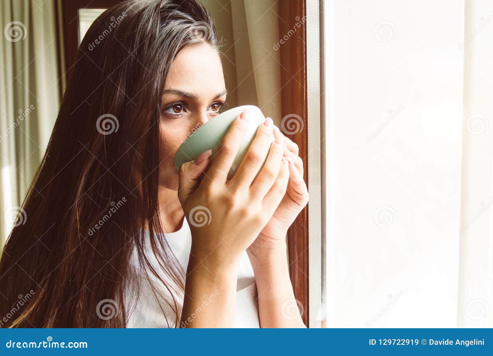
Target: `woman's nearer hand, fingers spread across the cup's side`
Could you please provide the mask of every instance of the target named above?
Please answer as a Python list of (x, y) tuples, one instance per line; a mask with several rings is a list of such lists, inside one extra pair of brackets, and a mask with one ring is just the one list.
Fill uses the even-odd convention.
[[(278, 138), (271, 146), (270, 118), (260, 125), (238, 171), (227, 180), (248, 119), (249, 113), (244, 110), (233, 121), (207, 173), (211, 151), (179, 168), (178, 198), (192, 232), (191, 256), (200, 261), (238, 262), (286, 192), (289, 167), (286, 158), (282, 158), (284, 143)], [(262, 167), (267, 152), (269, 156)]]

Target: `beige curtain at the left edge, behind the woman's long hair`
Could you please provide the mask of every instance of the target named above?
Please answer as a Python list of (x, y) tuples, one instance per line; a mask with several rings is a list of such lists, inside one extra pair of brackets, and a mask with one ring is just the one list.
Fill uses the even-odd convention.
[(1, 0), (0, 25), (1, 247), (59, 108), (55, 1)]

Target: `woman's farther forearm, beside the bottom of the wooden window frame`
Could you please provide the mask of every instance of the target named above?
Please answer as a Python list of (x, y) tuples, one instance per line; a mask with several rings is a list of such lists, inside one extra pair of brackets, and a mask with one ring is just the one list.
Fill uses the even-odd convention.
[(248, 255), (257, 284), (260, 326), (306, 327), (289, 278), (285, 243)]

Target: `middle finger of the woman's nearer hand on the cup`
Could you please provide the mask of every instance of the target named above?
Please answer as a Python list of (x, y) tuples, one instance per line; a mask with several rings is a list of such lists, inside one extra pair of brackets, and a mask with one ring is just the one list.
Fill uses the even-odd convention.
[(250, 186), (267, 157), (272, 143), (273, 129), (271, 118), (266, 118), (264, 123), (258, 127), (257, 134), (248, 148), (245, 158), (231, 179), (231, 184)]

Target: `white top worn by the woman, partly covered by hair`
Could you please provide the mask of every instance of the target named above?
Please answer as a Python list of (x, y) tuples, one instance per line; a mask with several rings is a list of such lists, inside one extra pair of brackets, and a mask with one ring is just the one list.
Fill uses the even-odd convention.
[[(176, 259), (179, 264), (186, 272), (188, 266), (188, 258), (190, 255), (190, 247), (192, 245), (192, 235), (190, 233), (190, 227), (186, 219), (183, 219), (183, 224), (181, 228), (170, 234), (164, 234), (165, 238), (175, 254)], [(145, 235), (147, 238), (149, 234)], [(148, 241), (146, 241), (148, 243)], [(157, 259), (155, 258), (150, 245), (147, 246), (147, 255), (149, 256), (151, 264), (157, 271), (163, 273), (163, 279), (169, 280), (169, 277), (164, 276), (162, 268), (160, 268)], [(134, 266), (134, 271), (131, 273), (128, 282), (130, 284), (128, 291), (130, 296), (129, 300), (132, 302), (128, 303), (127, 313), (127, 327), (133, 328), (148, 328), (148, 327), (161, 327), (167, 328), (168, 322), (164, 317), (166, 314), (168, 321), (174, 323), (175, 315), (173, 309), (169, 307), (166, 301), (161, 301), (158, 303), (158, 297), (153, 293), (147, 278), (142, 275), (141, 269), (139, 268), (137, 261), (137, 251), (134, 251), (134, 255), (131, 264)], [(152, 276), (154, 285), (161, 287), (161, 292), (164, 295), (169, 296), (169, 300), (172, 301), (170, 293), (164, 288), (163, 283), (157, 278)], [(140, 292), (137, 300), (135, 300), (135, 286), (139, 284)], [(235, 327), (247, 328), (247, 327), (260, 327), (258, 320), (258, 303), (257, 303), (257, 286), (255, 285), (255, 278), (253, 276), (253, 270), (251, 268), (250, 260), (244, 253), (242, 261), (240, 263), (240, 268), (238, 271), (238, 284), (236, 287), (236, 314), (235, 314)], [(175, 294), (175, 293), (174, 293)], [(179, 310), (183, 306), (183, 292), (178, 291), (175, 295), (176, 300), (179, 303)], [(207, 308), (209, 301), (213, 300), (215, 296), (213, 293), (210, 296), (204, 295), (204, 303), (202, 304), (204, 308)], [(173, 302), (171, 302), (173, 303)], [(173, 304), (172, 304), (173, 305)], [(177, 325), (170, 325), (172, 327), (177, 327)], [(214, 325), (211, 325), (213, 327)]]

